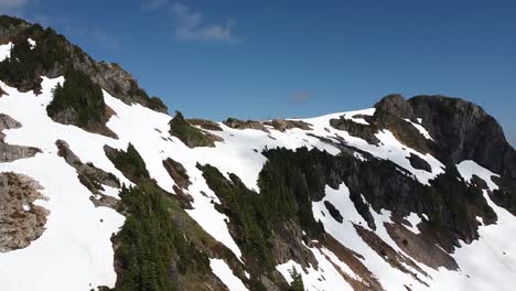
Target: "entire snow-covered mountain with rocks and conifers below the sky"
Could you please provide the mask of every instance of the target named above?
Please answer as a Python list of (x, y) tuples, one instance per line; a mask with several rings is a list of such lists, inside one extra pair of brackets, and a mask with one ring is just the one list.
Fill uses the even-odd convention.
[(514, 290), (516, 152), (462, 99), (173, 117), (0, 18), (0, 290)]

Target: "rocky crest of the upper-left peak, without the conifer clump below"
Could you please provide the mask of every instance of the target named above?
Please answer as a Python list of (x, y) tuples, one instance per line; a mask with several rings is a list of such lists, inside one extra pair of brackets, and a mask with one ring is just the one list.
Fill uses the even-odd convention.
[[(29, 50), (26, 39), (36, 42), (34, 50)], [(43, 29), (10, 17), (0, 18), (0, 43), (13, 42), (19, 45), (19, 64), (0, 62), (2, 80), (22, 91), (41, 89), (41, 76), (63, 76), (71, 67), (86, 73), (94, 83), (126, 104), (138, 103), (160, 112), (166, 112), (166, 106), (158, 97), (149, 97), (138, 86), (135, 77), (118, 64), (96, 62), (80, 47), (69, 43), (52, 29)], [(23, 48), (22, 48), (23, 47)], [(26, 57), (25, 57), (26, 56)], [(23, 72), (19, 75), (17, 72)]]

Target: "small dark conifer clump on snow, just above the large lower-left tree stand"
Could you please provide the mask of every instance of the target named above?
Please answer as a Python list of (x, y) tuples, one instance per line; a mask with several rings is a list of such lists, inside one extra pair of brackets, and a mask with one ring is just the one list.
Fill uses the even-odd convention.
[(106, 154), (115, 166), (131, 182), (139, 183), (144, 179), (149, 179), (146, 162), (131, 143), (127, 147), (127, 152), (111, 149), (106, 151)]

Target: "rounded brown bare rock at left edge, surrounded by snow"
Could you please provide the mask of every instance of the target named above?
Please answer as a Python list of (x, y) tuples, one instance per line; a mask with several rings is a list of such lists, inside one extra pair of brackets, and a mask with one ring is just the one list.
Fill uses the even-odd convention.
[(45, 198), (29, 176), (0, 173), (0, 252), (28, 247), (45, 230), (49, 211), (34, 204)]

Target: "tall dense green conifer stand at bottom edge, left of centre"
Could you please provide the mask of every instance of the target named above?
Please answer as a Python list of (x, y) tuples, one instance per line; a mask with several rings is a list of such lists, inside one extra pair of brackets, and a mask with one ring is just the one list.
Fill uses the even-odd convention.
[(171, 219), (170, 198), (153, 181), (123, 187), (127, 220), (117, 239), (116, 259), (122, 271), (115, 290), (176, 290), (172, 274), (192, 269), (209, 272), (209, 260), (187, 241)]

